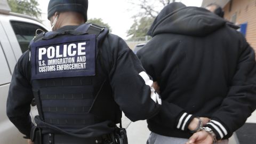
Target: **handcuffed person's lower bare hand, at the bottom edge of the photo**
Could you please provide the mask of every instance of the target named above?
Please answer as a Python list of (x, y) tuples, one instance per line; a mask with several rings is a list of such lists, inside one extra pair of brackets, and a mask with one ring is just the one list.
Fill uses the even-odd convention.
[(202, 130), (194, 133), (186, 144), (213, 144), (213, 138), (209, 133)]

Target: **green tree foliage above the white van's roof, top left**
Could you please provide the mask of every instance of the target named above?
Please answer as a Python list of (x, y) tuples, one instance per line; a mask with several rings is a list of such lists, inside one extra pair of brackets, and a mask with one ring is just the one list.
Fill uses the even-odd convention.
[(41, 10), (37, 8), (39, 5), (36, 0), (7, 0), (12, 12), (30, 15), (38, 18)]

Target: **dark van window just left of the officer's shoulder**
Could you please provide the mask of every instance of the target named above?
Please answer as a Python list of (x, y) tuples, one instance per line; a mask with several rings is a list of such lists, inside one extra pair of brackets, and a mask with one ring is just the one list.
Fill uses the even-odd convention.
[(42, 29), (46, 31), (44, 28), (38, 25), (26, 22), (11, 21), (11, 25), (18, 39), (22, 53), (28, 50), (28, 45), (30, 41), (34, 38), (37, 29)]

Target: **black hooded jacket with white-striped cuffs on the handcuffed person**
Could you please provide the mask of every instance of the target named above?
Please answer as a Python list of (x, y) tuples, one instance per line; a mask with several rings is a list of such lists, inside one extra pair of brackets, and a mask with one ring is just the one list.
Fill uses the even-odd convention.
[(148, 119), (150, 131), (189, 138), (195, 116), (227, 139), (255, 109), (256, 65), (252, 47), (218, 15), (181, 3), (167, 5), (137, 53), (160, 86), (163, 105)]

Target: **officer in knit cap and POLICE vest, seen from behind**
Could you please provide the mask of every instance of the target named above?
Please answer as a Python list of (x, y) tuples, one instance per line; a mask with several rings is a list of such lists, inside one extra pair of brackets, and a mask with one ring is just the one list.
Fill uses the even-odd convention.
[[(7, 116), (35, 143), (115, 143), (121, 110), (138, 121), (161, 106), (151, 77), (123, 39), (84, 23), (87, 6), (51, 0), (53, 31), (35, 37), (13, 71)], [(36, 127), (29, 116), (34, 98)]]

